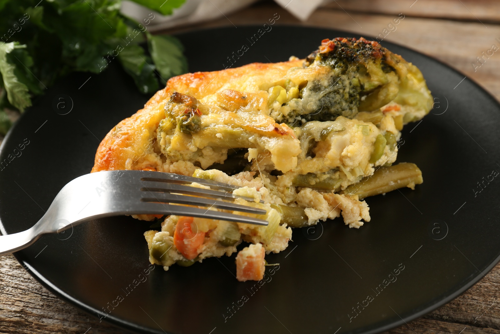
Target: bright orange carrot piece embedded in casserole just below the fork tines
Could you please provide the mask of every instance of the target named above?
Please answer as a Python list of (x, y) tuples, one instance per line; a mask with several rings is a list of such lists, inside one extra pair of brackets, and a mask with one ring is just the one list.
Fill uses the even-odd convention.
[(188, 260), (198, 256), (198, 247), (203, 244), (205, 233), (198, 231), (192, 217), (180, 216), (173, 232), (173, 244)]

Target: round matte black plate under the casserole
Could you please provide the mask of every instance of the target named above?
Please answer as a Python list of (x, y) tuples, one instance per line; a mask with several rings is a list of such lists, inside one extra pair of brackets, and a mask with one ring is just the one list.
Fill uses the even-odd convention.
[[(234, 66), (305, 57), (324, 38), (353, 36), (273, 27), (251, 45), (247, 38), (258, 28), (179, 35), (189, 70), (219, 70), (243, 44), (249, 49)], [(285, 251), (266, 257), (279, 266), (267, 267), (260, 284), (236, 281), (234, 256), (167, 272), (147, 269), (142, 232), (149, 223), (127, 217), (43, 236), (17, 259), (63, 299), (146, 332), (371, 333), (451, 300), (499, 259), (500, 177), (492, 175), (500, 171), (500, 108), (464, 75), (383, 45), (418, 66), (435, 105), (423, 121), (405, 127), (398, 156), (421, 168), (424, 183), (368, 198), (372, 218), (362, 228), (336, 219), (295, 229)], [(5, 138), (0, 161), (14, 158), (0, 170), (3, 233), (33, 225), (64, 184), (90, 171), (109, 129), (147, 100), (114, 65), (50, 88)]]

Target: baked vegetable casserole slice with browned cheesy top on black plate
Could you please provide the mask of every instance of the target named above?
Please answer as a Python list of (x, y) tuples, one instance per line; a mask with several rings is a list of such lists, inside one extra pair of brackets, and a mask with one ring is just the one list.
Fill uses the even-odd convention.
[[(161, 219), (161, 231), (145, 237), (150, 261), (165, 270), (175, 262), (230, 255), (242, 241), (279, 252), (291, 238), (290, 226), (341, 214), (358, 228), (370, 220), (362, 198), (421, 183), (415, 165), (392, 164), (403, 125), (420, 120), (432, 101), (420, 71), (377, 42), (323, 40), (305, 60), (171, 78), (106, 135), (92, 172), (153, 170), (212, 179), (255, 198), (240, 204), (267, 210), (265, 227)], [(248, 249), (256, 252), (245, 248), (238, 257), (240, 280), (263, 273), (263, 255)]]

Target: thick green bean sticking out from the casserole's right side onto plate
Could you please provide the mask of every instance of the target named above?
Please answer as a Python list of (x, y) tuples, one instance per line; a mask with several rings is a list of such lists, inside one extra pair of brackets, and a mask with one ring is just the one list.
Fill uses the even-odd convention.
[(366, 181), (351, 184), (343, 193), (366, 198), (403, 187), (413, 189), (415, 184), (422, 182), (422, 172), (415, 164), (401, 162), (397, 165), (378, 168)]

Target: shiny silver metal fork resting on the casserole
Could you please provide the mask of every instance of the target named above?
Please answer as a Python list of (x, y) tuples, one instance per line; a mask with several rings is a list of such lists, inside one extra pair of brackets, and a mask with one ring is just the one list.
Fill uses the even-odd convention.
[[(210, 189), (193, 187), (194, 182)], [(42, 234), (61, 232), (88, 220), (116, 215), (176, 214), (267, 225), (263, 219), (211, 210), (265, 214), (263, 209), (231, 203), (235, 198), (253, 201), (253, 198), (233, 195), (231, 192), (237, 188), (162, 172), (115, 170), (82, 175), (59, 191), (45, 214), (31, 228), (0, 235), (0, 256), (29, 246)]]

